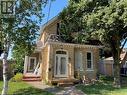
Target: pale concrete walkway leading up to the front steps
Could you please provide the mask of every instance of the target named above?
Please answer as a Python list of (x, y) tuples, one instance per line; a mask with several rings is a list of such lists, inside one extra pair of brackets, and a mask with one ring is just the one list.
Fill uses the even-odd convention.
[(42, 82), (27, 82), (27, 83), (34, 86), (35, 88), (46, 90), (55, 95), (86, 95), (82, 91), (77, 90), (75, 86), (54, 87), (54, 86), (46, 85)]

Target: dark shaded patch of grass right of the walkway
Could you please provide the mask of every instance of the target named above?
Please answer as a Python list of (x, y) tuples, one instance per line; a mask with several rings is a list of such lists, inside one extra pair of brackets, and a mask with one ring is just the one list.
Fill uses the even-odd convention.
[(76, 88), (82, 90), (85, 94), (106, 95), (107, 92), (116, 90), (112, 84), (96, 83), (92, 85), (77, 85)]

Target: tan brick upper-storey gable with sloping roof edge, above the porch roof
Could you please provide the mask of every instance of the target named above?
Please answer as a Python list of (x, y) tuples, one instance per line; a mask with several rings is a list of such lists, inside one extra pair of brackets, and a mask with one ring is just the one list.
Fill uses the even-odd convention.
[(45, 44), (51, 36), (59, 35), (59, 23), (60, 20), (58, 17), (54, 17), (41, 27), (39, 40), (41, 40), (43, 44)]

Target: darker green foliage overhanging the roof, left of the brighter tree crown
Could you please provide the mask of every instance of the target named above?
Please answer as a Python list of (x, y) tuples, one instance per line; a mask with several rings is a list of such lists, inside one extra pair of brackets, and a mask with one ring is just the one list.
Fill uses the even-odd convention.
[(70, 0), (69, 5), (61, 14), (61, 34), (64, 40), (73, 43), (86, 43), (91, 37), (87, 27), (87, 16), (98, 7), (109, 5), (108, 0)]

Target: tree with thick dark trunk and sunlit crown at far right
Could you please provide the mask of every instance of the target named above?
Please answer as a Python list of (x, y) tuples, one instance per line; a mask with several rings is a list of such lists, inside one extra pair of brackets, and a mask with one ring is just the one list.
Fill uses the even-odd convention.
[(110, 1), (109, 6), (88, 15), (87, 25), (94, 36), (98, 35), (110, 46), (114, 59), (114, 86), (120, 87), (120, 54), (127, 41), (127, 1)]

